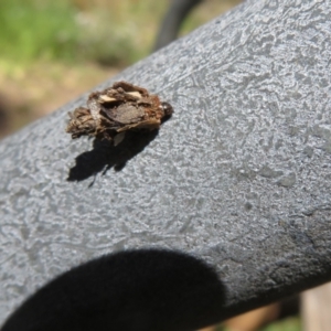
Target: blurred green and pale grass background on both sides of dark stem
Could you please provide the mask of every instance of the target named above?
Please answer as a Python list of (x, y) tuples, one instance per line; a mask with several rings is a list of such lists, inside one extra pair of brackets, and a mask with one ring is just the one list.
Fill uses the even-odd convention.
[[(183, 33), (239, 0), (205, 3), (184, 22)], [(36, 61), (129, 65), (150, 53), (168, 6), (169, 0), (1, 0), (0, 70)]]

